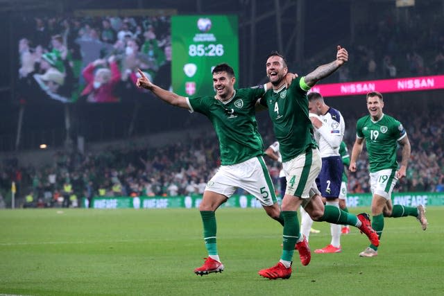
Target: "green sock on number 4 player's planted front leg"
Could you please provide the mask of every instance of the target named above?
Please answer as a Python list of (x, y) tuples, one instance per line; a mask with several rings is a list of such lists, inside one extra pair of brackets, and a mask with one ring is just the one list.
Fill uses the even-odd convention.
[(297, 211), (282, 211), (284, 217), (284, 231), (282, 240), (284, 246), (282, 247), (281, 259), (284, 261), (292, 261), (294, 247), (300, 236), (299, 220)]

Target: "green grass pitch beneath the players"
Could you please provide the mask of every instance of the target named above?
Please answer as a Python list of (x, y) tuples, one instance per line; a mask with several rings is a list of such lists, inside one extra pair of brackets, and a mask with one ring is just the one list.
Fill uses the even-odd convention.
[[(363, 209), (352, 209), (359, 213)], [(368, 211), (368, 209), (366, 209)], [(262, 209), (219, 209), (222, 273), (192, 270), (206, 256), (197, 209), (0, 211), (0, 294), (21, 295), (444, 295), (444, 208), (429, 207), (423, 232), (412, 217), (387, 218), (379, 254), (357, 229), (343, 252), (312, 254), (293, 275), (257, 275), (280, 258), (282, 227)], [(314, 223), (311, 250), (330, 243)]]

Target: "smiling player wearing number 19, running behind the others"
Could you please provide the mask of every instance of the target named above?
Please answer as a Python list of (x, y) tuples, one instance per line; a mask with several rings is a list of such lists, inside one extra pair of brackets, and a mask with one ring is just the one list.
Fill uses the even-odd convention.
[[(370, 164), (370, 188), (372, 200), (372, 227), (379, 238), (384, 229), (384, 217), (413, 216), (418, 219), (422, 230), (427, 228), (427, 218), (422, 205), (418, 207), (404, 207), (400, 204), (392, 205), (391, 191), (396, 181), (406, 175), (407, 164), (410, 158), (410, 142), (402, 124), (391, 116), (382, 112), (384, 99), (379, 92), (369, 92), (367, 98), (368, 115), (361, 117), (356, 124), (356, 141), (353, 145), (350, 171), (357, 170), (357, 159), (366, 142), (368, 162)], [(401, 166), (398, 169), (396, 150), (398, 144), (402, 147)], [(398, 170), (398, 171), (397, 171)], [(377, 256), (377, 245), (370, 245), (359, 256)]]

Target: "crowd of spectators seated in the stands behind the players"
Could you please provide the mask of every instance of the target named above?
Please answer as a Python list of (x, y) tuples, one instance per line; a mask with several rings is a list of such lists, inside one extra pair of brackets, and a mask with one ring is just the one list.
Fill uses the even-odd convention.
[[(418, 116), (411, 119), (409, 114), (412, 110), (414, 107), (398, 113), (400, 120), (405, 121), (412, 149), (407, 179), (402, 180), (395, 191), (444, 192), (444, 140), (436, 137), (443, 134), (444, 123), (424, 122), (423, 119), (427, 117), (425, 112), (432, 112), (429, 118), (436, 118), (434, 111), (428, 108), (423, 112), (416, 110)], [(357, 116), (350, 113), (345, 115), (345, 119), (348, 124), (345, 142), (351, 153)], [(266, 148), (273, 143), (273, 132), (265, 123), (259, 126), (259, 130)], [(362, 153), (357, 173), (348, 174), (351, 193), (370, 191), (366, 159), (366, 153)], [(266, 163), (275, 189), (279, 192), (280, 164), (268, 158)], [(208, 132), (198, 139), (178, 141), (162, 148), (128, 144), (127, 148), (110, 147), (96, 153), (59, 152), (54, 155), (51, 164), (42, 167), (27, 166), (19, 164), (17, 159), (8, 159), (0, 169), (0, 188), (1, 195), (5, 197), (10, 191), (11, 182), (15, 181), (18, 196), (32, 198), (32, 204), (39, 207), (75, 206), (79, 198), (93, 196), (201, 194), (205, 182), (219, 165), (219, 146), (215, 135)]]

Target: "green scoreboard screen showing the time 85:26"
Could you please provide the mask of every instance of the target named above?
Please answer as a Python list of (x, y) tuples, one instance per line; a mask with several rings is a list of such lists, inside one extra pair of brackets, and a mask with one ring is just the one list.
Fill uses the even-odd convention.
[[(171, 17), (172, 89), (182, 96), (214, 94), (212, 69), (226, 62), (238, 75), (239, 40), (235, 15)], [(238, 80), (239, 82), (239, 80)]]

